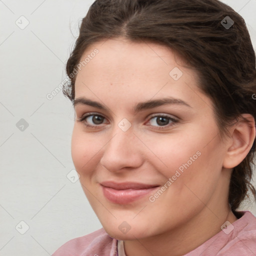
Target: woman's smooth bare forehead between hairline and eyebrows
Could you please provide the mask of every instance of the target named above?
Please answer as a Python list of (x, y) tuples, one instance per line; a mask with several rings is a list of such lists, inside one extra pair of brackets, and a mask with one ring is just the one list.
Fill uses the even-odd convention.
[(80, 61), (85, 59), (76, 76), (76, 97), (107, 96), (123, 104), (166, 95), (198, 101), (196, 73), (165, 45), (107, 39), (90, 45)]

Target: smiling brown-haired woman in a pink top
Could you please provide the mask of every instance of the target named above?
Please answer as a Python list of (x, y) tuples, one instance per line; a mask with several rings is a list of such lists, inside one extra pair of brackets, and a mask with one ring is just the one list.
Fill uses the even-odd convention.
[(64, 255), (255, 255), (236, 211), (255, 152), (255, 53), (218, 0), (96, 0), (67, 61), (72, 159), (103, 228)]

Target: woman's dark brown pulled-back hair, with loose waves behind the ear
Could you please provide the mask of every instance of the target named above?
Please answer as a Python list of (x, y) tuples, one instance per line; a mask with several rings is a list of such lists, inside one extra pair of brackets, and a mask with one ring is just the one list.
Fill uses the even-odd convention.
[[(224, 27), (226, 16), (234, 22), (231, 27)], [(255, 52), (244, 19), (228, 5), (218, 0), (94, 1), (66, 63), (70, 80), (63, 93), (71, 101), (74, 70), (86, 48), (118, 37), (164, 44), (187, 61), (198, 74), (199, 89), (212, 100), (220, 134), (242, 113), (256, 119)], [(232, 170), (228, 202), (233, 212), (249, 190), (256, 199), (250, 183), (254, 156), (255, 138), (247, 156)]]

